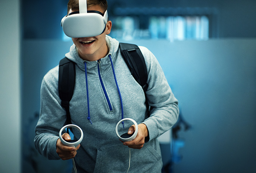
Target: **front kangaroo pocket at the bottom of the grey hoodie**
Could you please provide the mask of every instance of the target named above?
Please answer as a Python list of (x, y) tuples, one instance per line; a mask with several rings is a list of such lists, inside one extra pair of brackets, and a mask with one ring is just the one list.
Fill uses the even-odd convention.
[[(161, 172), (161, 154), (150, 145), (144, 145), (140, 150), (131, 148), (129, 172)], [(94, 173), (124, 173), (129, 167), (129, 148), (115, 144), (97, 151)], [(152, 170), (154, 169), (154, 170)], [(152, 170), (152, 171), (151, 171)]]

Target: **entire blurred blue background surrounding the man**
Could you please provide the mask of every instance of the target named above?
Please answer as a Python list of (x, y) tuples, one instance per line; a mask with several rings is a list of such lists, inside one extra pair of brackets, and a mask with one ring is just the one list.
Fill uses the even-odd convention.
[[(68, 173), (34, 148), (44, 74), (73, 44), (68, 0), (0, 0), (0, 172)], [(163, 173), (256, 172), (256, 1), (108, 0), (110, 36), (147, 47), (179, 100)]]

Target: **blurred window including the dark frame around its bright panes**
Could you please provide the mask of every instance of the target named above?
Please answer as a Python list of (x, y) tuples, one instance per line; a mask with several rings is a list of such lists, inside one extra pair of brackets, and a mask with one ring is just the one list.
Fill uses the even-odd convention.
[(216, 9), (209, 7), (117, 7), (109, 15), (110, 36), (126, 40), (206, 40), (213, 37), (215, 14)]

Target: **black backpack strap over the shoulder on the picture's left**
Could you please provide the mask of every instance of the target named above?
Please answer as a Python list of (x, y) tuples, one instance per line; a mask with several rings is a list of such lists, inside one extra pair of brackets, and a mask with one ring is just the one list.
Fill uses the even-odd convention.
[(59, 97), (61, 98), (61, 106), (65, 108), (67, 113), (67, 124), (71, 124), (69, 102), (73, 96), (75, 86), (75, 63), (67, 57), (59, 61)]

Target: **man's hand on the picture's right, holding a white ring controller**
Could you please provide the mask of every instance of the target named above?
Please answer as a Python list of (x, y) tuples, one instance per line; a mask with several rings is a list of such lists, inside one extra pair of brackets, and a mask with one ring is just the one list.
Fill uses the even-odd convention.
[[(135, 125), (130, 126), (128, 129), (128, 134), (131, 135), (135, 132)], [(148, 129), (145, 124), (138, 125), (138, 134), (136, 138), (132, 141), (123, 142), (124, 145), (127, 145), (129, 148), (141, 149), (145, 144), (145, 137), (148, 136)], [(121, 141), (121, 140), (120, 140)]]

